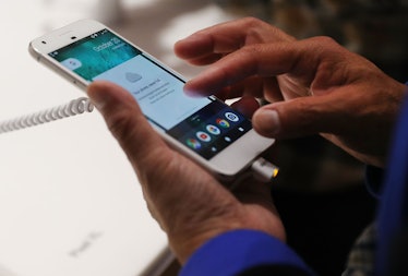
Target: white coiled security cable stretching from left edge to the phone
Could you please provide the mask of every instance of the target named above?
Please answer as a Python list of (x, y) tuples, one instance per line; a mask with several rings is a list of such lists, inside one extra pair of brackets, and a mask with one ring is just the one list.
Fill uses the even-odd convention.
[(45, 122), (60, 120), (83, 112), (92, 112), (93, 110), (94, 106), (91, 104), (89, 99), (86, 97), (81, 97), (73, 99), (65, 105), (2, 121), (0, 122), (0, 134), (34, 127)]

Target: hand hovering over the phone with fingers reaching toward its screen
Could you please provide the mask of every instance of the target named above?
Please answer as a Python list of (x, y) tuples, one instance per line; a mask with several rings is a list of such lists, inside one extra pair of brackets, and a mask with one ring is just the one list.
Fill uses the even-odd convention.
[(200, 31), (175, 51), (192, 64), (211, 64), (187, 83), (188, 94), (243, 97), (236, 106), (244, 112), (249, 97), (269, 101), (252, 118), (261, 134), (321, 133), (358, 159), (384, 166), (405, 85), (333, 39), (296, 40), (243, 19)]

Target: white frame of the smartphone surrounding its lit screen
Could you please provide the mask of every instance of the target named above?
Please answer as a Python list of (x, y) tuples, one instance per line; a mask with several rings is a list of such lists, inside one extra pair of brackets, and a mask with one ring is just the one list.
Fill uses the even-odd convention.
[[(74, 23), (71, 23), (61, 28), (55, 29), (46, 35), (43, 35), (29, 43), (29, 52), (31, 55), (39, 62), (44, 63), (52, 71), (59, 73), (61, 76), (77, 85), (81, 89), (86, 91), (88, 81), (76, 75), (74, 72), (62, 67), (58, 61), (49, 57), (49, 52), (58, 50), (64, 46), (68, 46), (74, 41), (77, 41), (84, 37), (87, 37), (96, 32), (99, 32), (104, 28), (109, 29), (115, 35), (131, 44), (136, 49), (141, 50), (145, 56), (157, 62), (159, 65), (166, 68), (170, 73), (175, 74), (181, 80), (184, 80), (182, 75), (178, 72), (164, 64), (157, 58), (153, 57), (141, 47), (129, 41), (122, 37), (117, 32), (112, 31), (108, 26), (94, 21), (94, 20), (81, 20)], [(185, 81), (185, 80), (184, 80)], [(207, 168), (213, 173), (216, 173), (218, 177), (224, 179), (232, 179), (236, 175), (243, 171), (248, 168), (251, 163), (260, 156), (266, 148), (268, 148), (275, 142), (274, 139), (268, 139), (259, 135), (253, 129), (242, 135), (240, 139), (235, 141), (227, 148), (223, 149), (216, 156), (209, 160), (203, 158), (192, 149), (189, 149), (182, 143), (176, 139), (167, 135), (164, 132), (158, 131), (163, 139), (168, 142), (172, 147), (182, 154), (194, 159), (196, 163)]]

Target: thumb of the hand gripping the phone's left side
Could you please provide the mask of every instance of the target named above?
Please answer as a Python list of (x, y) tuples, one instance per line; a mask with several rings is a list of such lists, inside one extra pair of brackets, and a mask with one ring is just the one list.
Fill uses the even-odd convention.
[(87, 94), (103, 115), (108, 129), (139, 170), (149, 166), (145, 159), (165, 147), (142, 113), (136, 100), (124, 88), (109, 82), (94, 82)]

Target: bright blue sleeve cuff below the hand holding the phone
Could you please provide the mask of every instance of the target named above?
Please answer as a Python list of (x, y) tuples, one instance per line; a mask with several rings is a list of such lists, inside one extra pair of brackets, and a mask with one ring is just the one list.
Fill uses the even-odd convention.
[[(256, 273), (255, 273), (256, 272)], [(303, 261), (278, 239), (255, 230), (223, 233), (202, 245), (180, 276), (314, 275)]]

